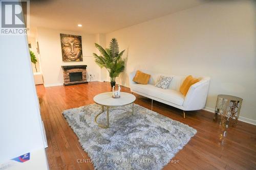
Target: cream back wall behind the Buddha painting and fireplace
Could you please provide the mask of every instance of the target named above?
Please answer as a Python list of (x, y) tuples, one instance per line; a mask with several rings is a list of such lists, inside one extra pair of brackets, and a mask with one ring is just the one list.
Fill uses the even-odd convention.
[[(61, 55), (60, 33), (82, 36), (83, 61), (63, 62)], [(87, 80), (90, 81), (90, 74), (93, 80), (100, 80), (100, 68), (94, 62), (93, 53), (96, 53), (94, 43), (97, 41), (96, 35), (84, 34), (81, 32), (52, 30), (37, 28), (37, 40), (40, 51), (41, 72), (44, 76), (45, 86), (63, 84), (63, 72), (61, 65), (87, 65)]]

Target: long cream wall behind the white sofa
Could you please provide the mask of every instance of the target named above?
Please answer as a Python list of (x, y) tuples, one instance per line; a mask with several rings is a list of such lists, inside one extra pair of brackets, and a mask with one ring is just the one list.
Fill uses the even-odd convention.
[[(209, 76), (206, 107), (217, 94), (244, 99), (241, 118), (256, 120), (255, 9), (252, 1), (214, 1), (106, 35), (126, 49), (126, 71), (117, 79), (129, 86), (137, 69), (176, 75)], [(253, 120), (251, 120), (253, 119)]]

